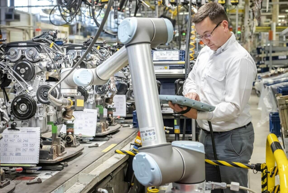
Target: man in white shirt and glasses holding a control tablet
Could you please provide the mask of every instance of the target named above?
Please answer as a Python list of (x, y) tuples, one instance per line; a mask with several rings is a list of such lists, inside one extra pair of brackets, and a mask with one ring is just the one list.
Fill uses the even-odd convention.
[[(207, 159), (214, 160), (208, 125), (211, 121), (218, 160), (248, 163), (254, 143), (248, 101), (257, 72), (255, 62), (229, 31), (228, 17), (220, 4), (203, 5), (192, 22), (196, 37), (206, 46), (185, 81), (183, 95), (216, 108), (213, 112), (205, 112), (171, 102), (169, 105), (174, 111), (197, 120), (201, 127), (199, 141), (204, 144)], [(247, 187), (248, 169), (220, 166), (220, 171), (222, 182), (235, 181)], [(215, 166), (206, 164), (206, 181), (219, 182)], [(225, 189), (224, 192), (233, 191)]]

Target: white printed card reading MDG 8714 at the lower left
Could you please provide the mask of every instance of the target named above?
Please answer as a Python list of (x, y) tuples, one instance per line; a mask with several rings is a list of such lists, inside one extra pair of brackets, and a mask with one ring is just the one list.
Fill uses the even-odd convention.
[(0, 140), (0, 159), (5, 164), (38, 164), (40, 127), (5, 129)]

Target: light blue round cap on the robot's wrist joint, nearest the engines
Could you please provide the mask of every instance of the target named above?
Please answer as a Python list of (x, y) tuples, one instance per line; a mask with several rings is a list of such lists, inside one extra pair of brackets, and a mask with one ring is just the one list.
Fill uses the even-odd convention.
[(93, 74), (88, 69), (78, 69), (73, 74), (73, 81), (78, 86), (87, 86), (93, 80)]

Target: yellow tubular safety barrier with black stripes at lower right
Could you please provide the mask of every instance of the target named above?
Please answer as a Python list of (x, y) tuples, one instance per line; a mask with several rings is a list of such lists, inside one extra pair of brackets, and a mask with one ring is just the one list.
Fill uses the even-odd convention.
[[(275, 161), (277, 167), (275, 167)], [(276, 171), (278, 171), (280, 177), (280, 190), (283, 193), (288, 192), (288, 159), (278, 141), (278, 138), (274, 134), (269, 134), (267, 137), (266, 166), (268, 173), (267, 190), (271, 193), (276, 193), (276, 191), (279, 190), (279, 188), (275, 186), (275, 175), (277, 175)]]

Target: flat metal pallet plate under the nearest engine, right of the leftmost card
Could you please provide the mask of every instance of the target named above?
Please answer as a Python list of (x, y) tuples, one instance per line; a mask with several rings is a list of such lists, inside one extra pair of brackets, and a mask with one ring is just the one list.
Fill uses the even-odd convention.
[[(49, 160), (48, 158), (46, 158), (46, 160), (40, 160), (39, 159), (39, 163), (56, 163), (56, 162), (60, 162), (62, 160), (65, 160), (67, 158), (71, 158), (72, 156), (75, 156), (76, 154), (80, 153), (82, 150), (84, 150), (84, 146), (83, 145), (79, 145), (78, 147), (65, 147), (65, 151), (63, 153), (61, 153), (61, 156), (56, 157), (53, 160)], [(66, 152), (66, 153), (65, 153)], [(40, 151), (41, 154), (41, 151)]]

